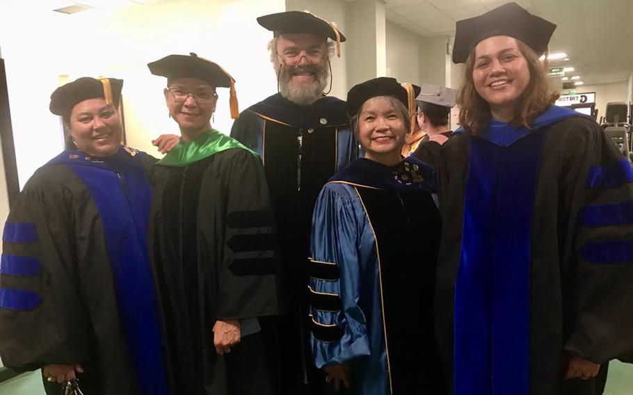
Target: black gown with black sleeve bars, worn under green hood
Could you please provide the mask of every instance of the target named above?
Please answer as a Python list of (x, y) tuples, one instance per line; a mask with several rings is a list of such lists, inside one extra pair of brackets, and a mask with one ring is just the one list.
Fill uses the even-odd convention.
[[(260, 332), (245, 336), (253, 330), (243, 321), (257, 325), (257, 317), (280, 312), (259, 157), (243, 148), (209, 149), (187, 166), (159, 162), (152, 184), (150, 253), (177, 394), (275, 394), (267, 366), (275, 357), (265, 355)], [(241, 342), (222, 356), (214, 347), (216, 320), (242, 323)]]

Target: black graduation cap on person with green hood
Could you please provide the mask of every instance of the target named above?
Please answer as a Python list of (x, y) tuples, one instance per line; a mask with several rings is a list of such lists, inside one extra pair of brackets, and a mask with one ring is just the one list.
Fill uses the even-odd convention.
[(165, 56), (158, 61), (147, 63), (147, 67), (150, 68), (152, 74), (166, 77), (168, 82), (189, 77), (201, 79), (214, 88), (230, 88), (229, 104), (231, 118), (238, 118), (239, 108), (237, 92), (235, 91), (235, 80), (217, 63), (208, 61), (190, 52), (189, 56)]

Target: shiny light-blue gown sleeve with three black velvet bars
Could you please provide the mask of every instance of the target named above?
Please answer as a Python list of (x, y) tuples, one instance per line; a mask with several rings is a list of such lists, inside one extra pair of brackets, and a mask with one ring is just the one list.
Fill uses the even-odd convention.
[(363, 224), (358, 218), (364, 218), (364, 211), (344, 188), (326, 184), (312, 216), (308, 296), (318, 368), (371, 354), (367, 320), (359, 306)]

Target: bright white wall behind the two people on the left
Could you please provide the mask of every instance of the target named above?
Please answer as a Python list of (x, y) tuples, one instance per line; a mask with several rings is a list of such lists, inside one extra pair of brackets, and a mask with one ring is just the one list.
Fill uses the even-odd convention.
[[(277, 91), (266, 50), (272, 33), (255, 18), (282, 10), (283, 0), (172, 0), (74, 15), (3, 4), (0, 48), (6, 59), (21, 185), (62, 150), (58, 118), (48, 111), (58, 76), (125, 79), (127, 143), (156, 156), (150, 140), (163, 133), (177, 134), (178, 129), (164, 103), (166, 81), (152, 76), (147, 63), (190, 51), (216, 61), (236, 79), (240, 108), (246, 108)], [(24, 21), (29, 21), (26, 28)], [(44, 33), (22, 33), (32, 26)], [(228, 133), (232, 124), (228, 90), (221, 88), (218, 93), (214, 127)]]

